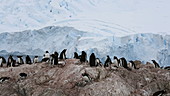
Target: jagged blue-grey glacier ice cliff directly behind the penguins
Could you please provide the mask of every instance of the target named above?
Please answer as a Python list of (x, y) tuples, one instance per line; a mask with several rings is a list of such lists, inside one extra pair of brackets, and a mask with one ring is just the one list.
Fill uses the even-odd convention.
[(138, 33), (127, 36), (103, 35), (80, 31), (73, 27), (49, 26), (39, 30), (4, 32), (0, 34), (0, 55), (20, 54), (42, 56), (67, 49), (67, 57), (73, 58), (76, 51), (92, 52), (102, 62), (109, 55), (125, 57), (127, 60), (141, 60), (143, 63), (155, 59), (161, 66), (170, 65), (170, 35)]

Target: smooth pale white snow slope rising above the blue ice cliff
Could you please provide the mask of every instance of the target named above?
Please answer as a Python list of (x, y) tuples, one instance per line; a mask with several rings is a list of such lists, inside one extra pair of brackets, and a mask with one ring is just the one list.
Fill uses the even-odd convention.
[(69, 26), (103, 35), (170, 34), (169, 0), (0, 0), (0, 33)]

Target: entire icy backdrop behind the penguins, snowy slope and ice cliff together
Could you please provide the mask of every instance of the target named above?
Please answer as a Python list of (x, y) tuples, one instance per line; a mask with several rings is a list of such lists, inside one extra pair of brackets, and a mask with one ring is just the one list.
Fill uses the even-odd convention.
[(67, 48), (69, 57), (74, 51), (85, 50), (88, 55), (95, 52), (103, 61), (106, 55), (116, 55), (129, 60), (156, 59), (167, 65), (169, 3), (168, 0), (0, 0), (0, 51), (42, 55), (45, 50), (61, 52)]

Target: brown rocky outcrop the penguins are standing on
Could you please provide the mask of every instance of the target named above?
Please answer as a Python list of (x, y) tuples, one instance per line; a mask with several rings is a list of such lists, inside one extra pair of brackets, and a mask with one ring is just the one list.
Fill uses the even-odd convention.
[[(64, 66), (37, 63), (0, 68), (0, 77), (10, 77), (0, 83), (0, 96), (151, 96), (160, 90), (170, 95), (169, 70), (138, 67), (131, 71), (90, 67), (67, 59)], [(21, 72), (28, 76), (20, 78)]]

